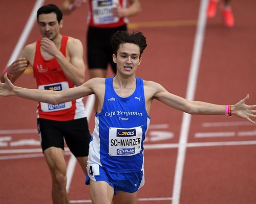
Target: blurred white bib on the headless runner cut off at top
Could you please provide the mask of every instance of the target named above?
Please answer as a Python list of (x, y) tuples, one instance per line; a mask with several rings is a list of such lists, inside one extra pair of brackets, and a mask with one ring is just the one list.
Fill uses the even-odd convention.
[(118, 4), (118, 0), (93, 0), (92, 12), (95, 24), (115, 23), (119, 18), (113, 15), (112, 9)]

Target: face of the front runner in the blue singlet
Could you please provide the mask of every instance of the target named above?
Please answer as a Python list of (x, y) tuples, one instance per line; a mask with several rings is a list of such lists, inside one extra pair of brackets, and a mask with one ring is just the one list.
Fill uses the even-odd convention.
[(113, 60), (117, 64), (117, 72), (123, 74), (135, 73), (141, 62), (140, 48), (133, 43), (120, 44), (117, 50), (117, 56), (113, 55)]

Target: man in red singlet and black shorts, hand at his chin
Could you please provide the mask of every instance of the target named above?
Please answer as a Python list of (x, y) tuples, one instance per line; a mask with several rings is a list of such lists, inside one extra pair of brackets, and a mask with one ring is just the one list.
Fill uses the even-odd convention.
[[(43, 6), (37, 11), (37, 22), (42, 38), (25, 46), (21, 57), (4, 73), (8, 71), (10, 80), (15, 82), (31, 65), (38, 89), (61, 91), (81, 85), (85, 71), (82, 43), (59, 33), (63, 25), (61, 10), (55, 5)], [(1, 82), (5, 81), (4, 73)], [(91, 139), (82, 98), (57, 105), (38, 103), (37, 124), (42, 151), (52, 175), (53, 203), (69, 203), (64, 139), (84, 174)]]

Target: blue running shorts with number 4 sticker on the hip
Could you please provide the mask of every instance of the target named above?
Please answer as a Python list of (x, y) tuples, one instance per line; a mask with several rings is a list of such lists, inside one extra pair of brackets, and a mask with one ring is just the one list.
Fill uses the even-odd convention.
[(117, 191), (134, 193), (144, 186), (144, 171), (132, 173), (116, 173), (104, 170), (98, 164), (88, 164), (86, 185), (92, 181), (104, 181), (114, 188), (114, 194)]

